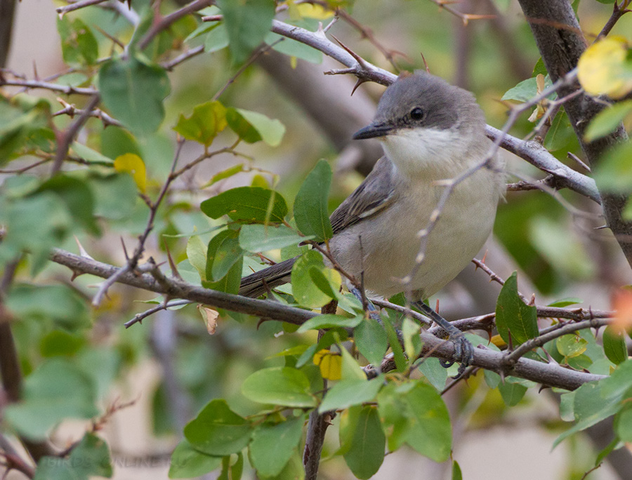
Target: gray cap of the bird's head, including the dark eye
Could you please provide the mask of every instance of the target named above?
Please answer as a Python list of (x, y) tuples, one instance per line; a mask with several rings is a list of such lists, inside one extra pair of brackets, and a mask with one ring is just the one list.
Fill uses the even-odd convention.
[(402, 74), (380, 99), (373, 122), (390, 128), (441, 130), (478, 124), (483, 114), (474, 96), (438, 76), (417, 70)]

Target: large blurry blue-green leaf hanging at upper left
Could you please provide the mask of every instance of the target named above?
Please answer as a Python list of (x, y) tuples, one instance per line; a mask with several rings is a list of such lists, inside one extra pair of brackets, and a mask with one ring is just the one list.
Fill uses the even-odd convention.
[(103, 105), (134, 133), (147, 135), (162, 123), (170, 86), (159, 65), (133, 57), (108, 60), (99, 72), (99, 89)]

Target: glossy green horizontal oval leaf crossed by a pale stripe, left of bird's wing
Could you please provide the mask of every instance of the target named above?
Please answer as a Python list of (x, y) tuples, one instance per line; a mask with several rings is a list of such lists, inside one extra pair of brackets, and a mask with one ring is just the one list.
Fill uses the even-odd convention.
[(261, 187), (237, 187), (204, 200), (202, 212), (211, 218), (228, 215), (237, 222), (283, 222), (287, 204), (281, 194)]

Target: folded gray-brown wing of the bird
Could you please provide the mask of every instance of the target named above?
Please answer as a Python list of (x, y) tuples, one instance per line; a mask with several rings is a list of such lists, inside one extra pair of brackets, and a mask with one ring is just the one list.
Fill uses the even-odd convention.
[(329, 220), (334, 234), (355, 225), (362, 218), (375, 215), (393, 204), (393, 164), (383, 156), (364, 182), (331, 213)]

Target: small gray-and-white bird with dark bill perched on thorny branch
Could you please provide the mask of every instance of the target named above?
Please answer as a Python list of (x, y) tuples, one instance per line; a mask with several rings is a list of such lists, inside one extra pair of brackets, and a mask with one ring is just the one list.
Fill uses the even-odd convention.
[[(421, 300), (454, 279), (492, 232), (506, 182), (501, 158), (489, 154), (485, 115), (472, 93), (418, 70), (386, 88), (374, 120), (353, 135), (367, 138), (381, 141), (384, 156), (331, 213), (329, 251), (345, 272), (362, 276), (368, 298), (406, 291), (454, 342), (461, 375), (472, 345)], [(438, 208), (446, 180), (457, 178)], [(244, 277), (240, 295), (288, 282), (295, 260)]]

